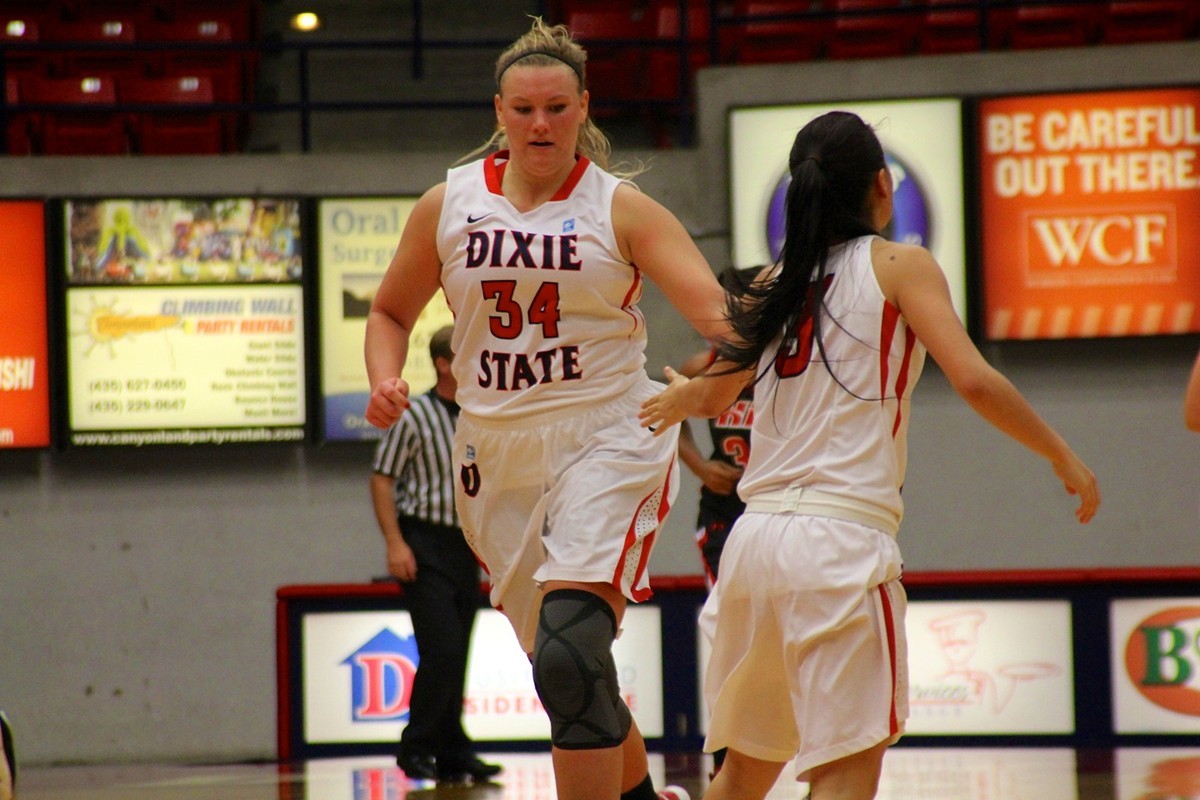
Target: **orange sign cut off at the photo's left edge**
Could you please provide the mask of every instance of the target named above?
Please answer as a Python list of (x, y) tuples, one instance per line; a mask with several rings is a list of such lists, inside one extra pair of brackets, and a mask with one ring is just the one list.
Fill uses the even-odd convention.
[(50, 444), (46, 207), (0, 201), (0, 449)]

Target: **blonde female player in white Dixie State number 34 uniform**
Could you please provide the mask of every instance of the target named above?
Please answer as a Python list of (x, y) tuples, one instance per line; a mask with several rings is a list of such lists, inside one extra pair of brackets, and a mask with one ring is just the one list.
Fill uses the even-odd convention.
[(586, 58), (565, 28), (536, 19), (498, 59), (499, 150), (451, 169), (413, 209), (367, 320), (366, 416), (386, 427), (408, 404), (409, 332), (443, 288), (462, 408), (458, 515), (492, 604), (530, 654), (558, 796), (653, 800), (611, 652), (626, 601), (649, 595), (646, 565), (678, 483), (678, 429), (637, 423), (656, 392), (642, 276), (706, 337), (728, 327), (679, 221), (606, 172)]

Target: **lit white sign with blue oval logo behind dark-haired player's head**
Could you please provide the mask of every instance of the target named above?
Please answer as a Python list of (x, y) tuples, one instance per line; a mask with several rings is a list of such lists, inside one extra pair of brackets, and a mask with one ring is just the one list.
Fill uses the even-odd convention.
[(958, 100), (733, 109), (730, 113), (732, 265), (744, 269), (779, 258), (792, 142), (805, 124), (833, 110), (858, 114), (875, 128), (895, 186), (893, 219), (882, 233), (894, 241), (922, 245), (932, 252), (965, 323), (962, 104)]

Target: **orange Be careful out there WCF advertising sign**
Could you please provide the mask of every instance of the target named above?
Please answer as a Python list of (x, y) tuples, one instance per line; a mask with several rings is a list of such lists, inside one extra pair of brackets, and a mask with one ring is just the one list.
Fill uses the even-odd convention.
[(1200, 89), (979, 103), (989, 339), (1200, 331)]

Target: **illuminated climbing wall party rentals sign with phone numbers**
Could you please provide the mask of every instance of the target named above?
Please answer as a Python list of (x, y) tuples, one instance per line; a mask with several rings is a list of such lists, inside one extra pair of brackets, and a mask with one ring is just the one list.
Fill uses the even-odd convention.
[(305, 438), (295, 200), (74, 200), (72, 445)]

